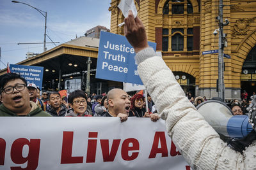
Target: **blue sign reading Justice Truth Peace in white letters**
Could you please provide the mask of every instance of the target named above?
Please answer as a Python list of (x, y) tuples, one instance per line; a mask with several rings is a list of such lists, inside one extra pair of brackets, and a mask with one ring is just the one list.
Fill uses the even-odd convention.
[[(156, 43), (148, 45), (156, 50)], [(134, 48), (125, 36), (101, 31), (96, 78), (143, 85), (134, 56)]]

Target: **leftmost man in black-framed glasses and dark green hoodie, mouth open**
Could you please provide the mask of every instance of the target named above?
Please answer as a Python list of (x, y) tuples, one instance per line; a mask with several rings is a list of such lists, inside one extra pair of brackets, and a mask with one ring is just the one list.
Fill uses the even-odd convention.
[(36, 103), (29, 101), (26, 80), (15, 73), (0, 76), (0, 117), (51, 117)]

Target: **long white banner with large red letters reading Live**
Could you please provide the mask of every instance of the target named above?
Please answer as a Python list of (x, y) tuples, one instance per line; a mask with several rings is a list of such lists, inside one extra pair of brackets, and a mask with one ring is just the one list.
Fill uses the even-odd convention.
[(0, 169), (184, 169), (163, 120), (1, 117)]

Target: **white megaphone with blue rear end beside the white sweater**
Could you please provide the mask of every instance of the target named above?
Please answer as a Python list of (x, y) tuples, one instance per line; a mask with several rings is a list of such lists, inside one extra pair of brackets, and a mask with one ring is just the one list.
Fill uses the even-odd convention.
[(253, 130), (247, 115), (233, 116), (227, 104), (221, 101), (205, 101), (196, 109), (216, 132), (225, 136), (243, 138)]

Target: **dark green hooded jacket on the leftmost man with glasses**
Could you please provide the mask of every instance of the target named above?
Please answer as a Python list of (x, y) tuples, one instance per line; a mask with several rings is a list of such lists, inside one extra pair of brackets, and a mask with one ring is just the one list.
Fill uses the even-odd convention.
[(39, 108), (36, 103), (33, 101), (30, 102), (31, 111), (28, 113), (28, 115), (19, 116), (13, 113), (12, 111), (8, 110), (4, 106), (4, 104), (0, 105), (0, 117), (51, 117), (49, 113), (46, 113), (45, 111), (42, 111), (41, 108)]

